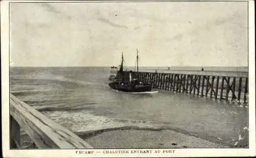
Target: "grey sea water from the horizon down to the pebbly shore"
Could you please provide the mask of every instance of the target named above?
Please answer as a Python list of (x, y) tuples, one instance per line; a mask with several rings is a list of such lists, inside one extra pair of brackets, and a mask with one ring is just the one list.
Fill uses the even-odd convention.
[(116, 92), (109, 73), (109, 67), (11, 67), (10, 91), (72, 131), (168, 127), (232, 142), (248, 122), (248, 108), (237, 103), (164, 90)]

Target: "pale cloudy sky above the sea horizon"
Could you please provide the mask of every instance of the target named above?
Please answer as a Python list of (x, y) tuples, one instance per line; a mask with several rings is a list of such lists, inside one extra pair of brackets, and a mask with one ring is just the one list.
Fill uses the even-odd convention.
[(247, 2), (11, 3), (11, 66), (247, 66)]

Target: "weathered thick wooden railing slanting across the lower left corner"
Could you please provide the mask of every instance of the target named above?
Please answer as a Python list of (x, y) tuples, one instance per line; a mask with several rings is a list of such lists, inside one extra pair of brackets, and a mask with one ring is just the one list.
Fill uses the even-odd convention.
[(70, 130), (10, 94), (10, 148), (20, 148), (20, 127), (37, 148), (93, 148)]

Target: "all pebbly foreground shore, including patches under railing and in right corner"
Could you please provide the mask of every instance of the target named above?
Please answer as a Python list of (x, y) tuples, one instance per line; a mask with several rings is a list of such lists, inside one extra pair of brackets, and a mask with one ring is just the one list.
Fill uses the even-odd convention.
[[(248, 130), (238, 137), (235, 146), (189, 136), (174, 130), (111, 129), (95, 132), (75, 132), (94, 148), (231, 148), (248, 147)], [(240, 140), (240, 138), (243, 138)], [(22, 132), (22, 148), (36, 148), (29, 136)]]

